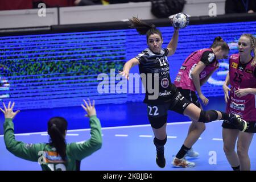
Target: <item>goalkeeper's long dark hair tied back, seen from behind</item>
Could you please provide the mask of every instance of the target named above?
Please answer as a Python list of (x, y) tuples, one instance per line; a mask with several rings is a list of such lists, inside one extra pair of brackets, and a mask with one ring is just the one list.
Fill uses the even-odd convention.
[(51, 137), (49, 143), (54, 146), (61, 158), (66, 158), (66, 140), (65, 131), (67, 130), (68, 122), (62, 117), (53, 117), (48, 121), (48, 134)]

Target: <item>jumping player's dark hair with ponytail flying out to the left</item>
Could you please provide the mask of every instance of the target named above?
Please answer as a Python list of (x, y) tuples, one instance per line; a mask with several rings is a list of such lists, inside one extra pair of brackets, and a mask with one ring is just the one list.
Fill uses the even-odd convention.
[(158, 34), (160, 38), (163, 39), (162, 33), (160, 32), (160, 30), (158, 30), (158, 28), (155, 27), (154, 24), (148, 24), (135, 17), (129, 19), (129, 21), (131, 23), (130, 27), (135, 28), (139, 33), (139, 35), (147, 35), (147, 40), (148, 40), (148, 37), (152, 34)]

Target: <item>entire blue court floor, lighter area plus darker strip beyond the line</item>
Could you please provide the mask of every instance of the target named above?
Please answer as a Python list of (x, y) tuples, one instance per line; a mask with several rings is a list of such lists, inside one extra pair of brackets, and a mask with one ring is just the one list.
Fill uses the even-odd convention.
[[(212, 103), (214, 102), (218, 103), (218, 101), (212, 100)], [(165, 146), (165, 156), (167, 164), (166, 167), (162, 169), (159, 168), (155, 163), (156, 152), (155, 146), (153, 144), (154, 135), (151, 126), (148, 125), (146, 106), (144, 106), (143, 103), (122, 104), (109, 107), (104, 105), (98, 105), (96, 109), (98, 111), (97, 115), (101, 119), (102, 123), (102, 148), (88, 158), (82, 160), (81, 170), (232, 170), (232, 168), (229, 166), (228, 161), (226, 160), (224, 151), (222, 150), (223, 142), (221, 121), (207, 123), (207, 129), (193, 146), (194, 150), (200, 153), (199, 158), (190, 158), (192, 162), (196, 163), (196, 167), (174, 168), (171, 166), (172, 155), (175, 155), (176, 152), (179, 151), (185, 137), (187, 136), (188, 127), (191, 122), (189, 122), (188, 118), (170, 111), (167, 124), (168, 137)], [(218, 109), (223, 110), (223, 105), (218, 106)], [(55, 110), (55, 112), (59, 112), (59, 115), (61, 115), (60, 113), (65, 113), (61, 115), (63, 117), (73, 117), (73, 121), (68, 118), (68, 143), (79, 142), (90, 138), (88, 119), (84, 118), (85, 113), (80, 107), (75, 107), (73, 108), (73, 110), (72, 108), (53, 110)], [(75, 114), (68, 114), (68, 110), (71, 113)], [(55, 112), (50, 112), (49, 110), (47, 111), (42, 109), (20, 112), (14, 120), (16, 140), (20, 140), (26, 143), (48, 142), (49, 137), (46, 133), (46, 123), (48, 121), (48, 117), (56, 115)], [(1, 130), (3, 128), (2, 117), (3, 116), (1, 114)], [(42, 119), (42, 123), (39, 122), (40, 119)], [(41, 170), (38, 163), (19, 159), (11, 154), (9, 151), (7, 151), (5, 148), (2, 134), (3, 133), (0, 133), (0, 170)], [(251, 159), (251, 170), (256, 170), (255, 154), (256, 139), (254, 138), (251, 142), (249, 150), (249, 156)], [(189, 160), (189, 158), (187, 159)]]

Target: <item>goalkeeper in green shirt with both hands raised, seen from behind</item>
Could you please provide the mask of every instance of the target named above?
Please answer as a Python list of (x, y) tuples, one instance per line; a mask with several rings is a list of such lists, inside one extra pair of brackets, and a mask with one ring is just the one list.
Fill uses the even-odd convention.
[(99, 150), (102, 145), (101, 123), (96, 117), (96, 109), (90, 100), (81, 106), (87, 112), (86, 117), (90, 118), (90, 139), (86, 142), (69, 143), (65, 142), (67, 133), (67, 121), (61, 117), (53, 117), (48, 121), (49, 143), (27, 144), (15, 140), (13, 119), (19, 110), (13, 111), (14, 102), (9, 102), (6, 108), (0, 110), (5, 114), (4, 138), (7, 150), (19, 158), (38, 162), (43, 171), (47, 170), (80, 170), (81, 160), (93, 152)]

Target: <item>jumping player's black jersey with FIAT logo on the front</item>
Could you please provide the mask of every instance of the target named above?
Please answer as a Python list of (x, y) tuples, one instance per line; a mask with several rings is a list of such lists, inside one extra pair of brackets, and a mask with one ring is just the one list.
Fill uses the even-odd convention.
[[(170, 102), (177, 93), (177, 88), (172, 84), (170, 78), (168, 52), (168, 49), (165, 48), (161, 49), (158, 54), (147, 48), (135, 57), (139, 60), (139, 73), (146, 91), (144, 103), (165, 104)], [(146, 76), (146, 79), (143, 75)]]

